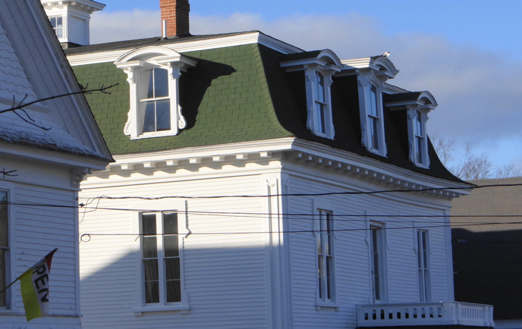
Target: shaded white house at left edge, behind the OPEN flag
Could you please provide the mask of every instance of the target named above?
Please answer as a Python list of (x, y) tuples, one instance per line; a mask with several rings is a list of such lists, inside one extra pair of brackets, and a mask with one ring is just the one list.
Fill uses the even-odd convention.
[(38, 0), (0, 0), (0, 290), (55, 248), (47, 318), (26, 320), (20, 285), (2, 329), (80, 328), (78, 191), (112, 160)]

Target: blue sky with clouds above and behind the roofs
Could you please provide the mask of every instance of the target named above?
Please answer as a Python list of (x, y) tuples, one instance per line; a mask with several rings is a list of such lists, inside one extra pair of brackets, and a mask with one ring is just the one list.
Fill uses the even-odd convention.
[[(100, 0), (91, 41), (160, 34), (158, 0)], [(429, 90), (438, 108), (429, 133), (469, 143), (495, 166), (522, 171), (522, 1), (191, 0), (193, 34), (260, 30), (341, 59), (390, 51), (400, 70), (388, 82)], [(136, 21), (141, 22), (136, 24)]]

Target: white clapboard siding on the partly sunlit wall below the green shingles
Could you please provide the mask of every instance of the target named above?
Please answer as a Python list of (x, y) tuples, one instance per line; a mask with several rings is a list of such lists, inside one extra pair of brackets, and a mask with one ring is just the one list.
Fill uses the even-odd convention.
[[(81, 197), (260, 194), (260, 175), (141, 182), (89, 189)], [(183, 239), (184, 285), (189, 310), (134, 313), (139, 298), (137, 236), (96, 236), (80, 243), (81, 307), (84, 328), (182, 327), (266, 328), (265, 220), (223, 213), (263, 213), (264, 198), (187, 199), (188, 234)], [(98, 204), (97, 202), (94, 202)], [(185, 210), (185, 201), (102, 200), (98, 207)], [(92, 204), (91, 204), (92, 205)], [(200, 211), (201, 213), (191, 213)], [(136, 233), (130, 211), (80, 213), (80, 234)], [(256, 232), (256, 233), (252, 233)], [(204, 234), (202, 234), (204, 233)], [(229, 233), (229, 234), (222, 234)]]

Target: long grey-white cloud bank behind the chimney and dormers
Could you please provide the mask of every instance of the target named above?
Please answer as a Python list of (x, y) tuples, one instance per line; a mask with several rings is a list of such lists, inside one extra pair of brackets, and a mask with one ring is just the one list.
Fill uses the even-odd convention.
[[(429, 90), (437, 99), (439, 106), (430, 114), (431, 131), (455, 138), (458, 144), (471, 142), (494, 156), (495, 164), (514, 163), (522, 169), (522, 159), (512, 148), (522, 145), (522, 62), (430, 34), (388, 36), (384, 24), (358, 14), (293, 15), (275, 21), (242, 13), (191, 16), (193, 34), (248, 30), (304, 50), (328, 48), (341, 59), (390, 51), (400, 73), (389, 83)], [(99, 13), (91, 21), (93, 42), (152, 37), (159, 31), (159, 11)]]

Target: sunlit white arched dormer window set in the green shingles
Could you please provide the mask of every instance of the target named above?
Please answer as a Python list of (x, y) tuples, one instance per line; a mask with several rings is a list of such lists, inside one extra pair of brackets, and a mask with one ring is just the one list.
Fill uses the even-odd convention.
[(179, 78), (196, 62), (160, 46), (121, 56), (114, 64), (125, 71), (130, 107), (124, 133), (131, 139), (174, 136), (186, 122), (179, 102)]

